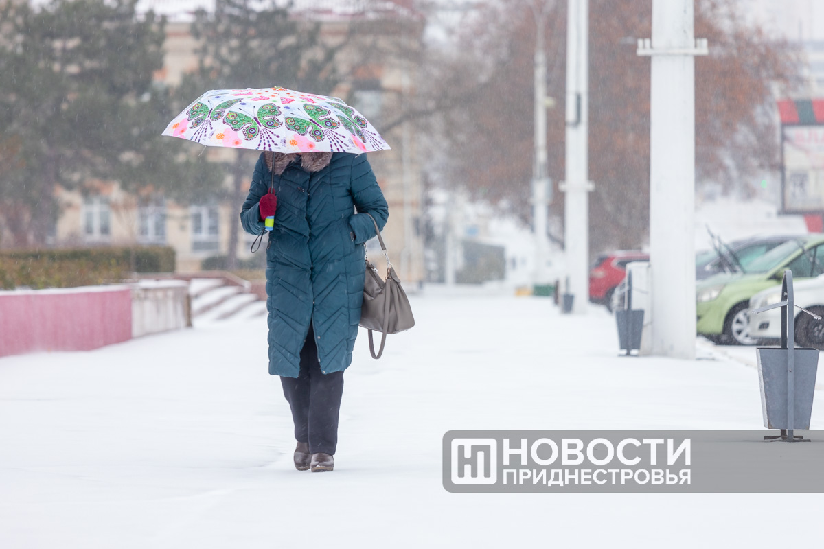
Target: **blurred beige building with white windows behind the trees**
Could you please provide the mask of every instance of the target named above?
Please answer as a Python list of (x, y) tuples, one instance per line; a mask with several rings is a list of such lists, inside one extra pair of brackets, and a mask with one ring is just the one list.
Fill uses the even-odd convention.
[[(408, 286), (424, 280), (423, 235), (421, 234), (422, 159), (418, 155), (412, 123), (398, 119), (405, 102), (415, 93), (414, 50), (420, 47), (423, 19), (411, 9), (410, 2), (328, 2), (303, 0), (293, 2), (292, 14), (321, 24), (321, 34), (334, 38), (344, 35), (353, 23), (368, 22), (372, 32), (364, 35), (368, 44), (396, 54), (377, 56), (377, 60), (355, 65), (356, 57), (345, 48), (339, 63), (352, 63), (349, 78), (333, 92), (351, 98), (353, 105), (366, 116), (390, 143), (391, 151), (369, 154), (390, 207), (390, 220), (383, 231), (392, 263)], [(157, 84), (176, 86), (185, 72), (194, 71), (198, 59), (198, 41), (190, 33), (194, 9), (213, 9), (208, 0), (143, 0), (138, 11), (154, 9), (166, 15), (166, 54), (164, 66), (157, 72)], [(273, 85), (279, 82), (274, 81)], [(205, 90), (204, 90), (205, 91)], [(193, 98), (194, 100), (194, 98)], [(388, 128), (384, 131), (382, 128)], [(170, 137), (171, 139), (171, 137)], [(254, 151), (209, 148), (202, 151), (202, 161), (232, 160), (236, 154), (255, 155)], [(227, 188), (230, 178), (227, 174)], [(249, 178), (251, 174), (249, 174)], [(248, 185), (248, 182), (246, 183)], [(61, 215), (56, 223), (56, 245), (166, 244), (176, 249), (177, 270), (197, 271), (207, 258), (226, 255), (233, 232), (237, 234), (238, 257), (250, 258), (253, 237), (242, 230), (238, 212), (227, 202), (175, 202), (162, 194), (135, 196), (124, 193), (116, 182), (87, 182), (84, 192), (59, 190)], [(382, 254), (377, 240), (368, 243), (370, 259), (380, 264)]]

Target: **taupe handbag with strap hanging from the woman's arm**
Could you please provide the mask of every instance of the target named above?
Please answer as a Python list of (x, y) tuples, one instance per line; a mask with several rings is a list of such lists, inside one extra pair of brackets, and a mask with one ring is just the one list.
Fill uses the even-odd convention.
[[(361, 305), (360, 325), (369, 330), (369, 351), (372, 358), (381, 358), (383, 347), (386, 344), (387, 333), (398, 333), (408, 330), (414, 326), (414, 317), (410, 301), (406, 298), (406, 292), (400, 287), (400, 279), (395, 273), (395, 268), (389, 261), (389, 254), (386, 253), (386, 244), (383, 244), (381, 231), (377, 228), (375, 218), (369, 214), (372, 223), (375, 223), (377, 240), (381, 243), (383, 255), (386, 257), (386, 280), (381, 280), (377, 274), (377, 269), (369, 259), (366, 260), (366, 278), (363, 281), (363, 305)], [(372, 331), (381, 332), (381, 347), (375, 352), (375, 344), (372, 342)]]

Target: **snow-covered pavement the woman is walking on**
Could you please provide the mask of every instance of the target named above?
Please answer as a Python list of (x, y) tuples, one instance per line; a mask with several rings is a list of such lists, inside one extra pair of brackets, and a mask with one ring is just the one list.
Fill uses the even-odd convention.
[(358, 339), (326, 474), (291, 463), (265, 318), (0, 359), (0, 547), (768, 547), (784, 521), (820, 544), (824, 495), (447, 493), (447, 430), (758, 429), (755, 351), (623, 358), (602, 308), (412, 303), (380, 361)]

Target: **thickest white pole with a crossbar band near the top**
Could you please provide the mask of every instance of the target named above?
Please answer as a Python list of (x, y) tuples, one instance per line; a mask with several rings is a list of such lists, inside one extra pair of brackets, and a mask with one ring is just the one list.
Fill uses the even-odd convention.
[(649, 162), (651, 351), (695, 358), (693, 0), (653, 0)]

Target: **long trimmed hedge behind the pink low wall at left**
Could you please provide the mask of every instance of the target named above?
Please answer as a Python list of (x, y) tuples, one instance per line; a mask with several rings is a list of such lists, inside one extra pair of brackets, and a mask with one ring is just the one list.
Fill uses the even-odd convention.
[(175, 272), (168, 246), (0, 251), (0, 287), (65, 288), (118, 282), (132, 272)]

